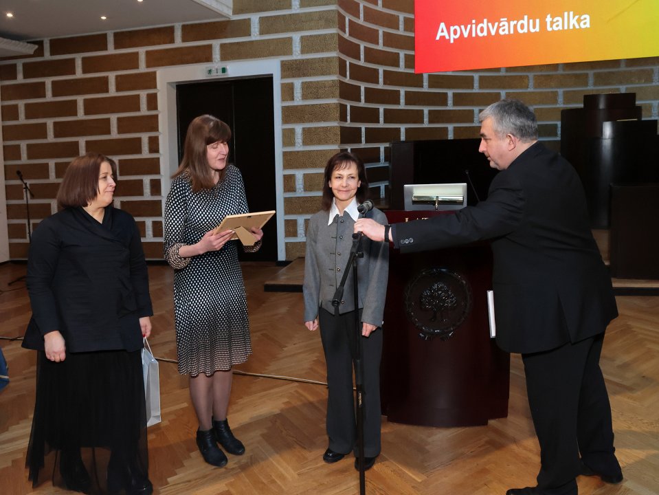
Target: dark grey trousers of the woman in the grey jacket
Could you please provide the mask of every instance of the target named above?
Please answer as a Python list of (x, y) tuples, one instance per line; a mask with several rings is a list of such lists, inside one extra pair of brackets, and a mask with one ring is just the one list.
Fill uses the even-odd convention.
[[(355, 316), (357, 311), (334, 316), (320, 308), (318, 317), (325, 362), (327, 364), (327, 419), (329, 448), (341, 454), (358, 453), (355, 393), (353, 391), (353, 356), (355, 346)], [(361, 311), (359, 311), (361, 315)], [(360, 324), (361, 328), (361, 324)], [(368, 338), (361, 336), (364, 351), (364, 456), (380, 454), (380, 360), (382, 329)]]

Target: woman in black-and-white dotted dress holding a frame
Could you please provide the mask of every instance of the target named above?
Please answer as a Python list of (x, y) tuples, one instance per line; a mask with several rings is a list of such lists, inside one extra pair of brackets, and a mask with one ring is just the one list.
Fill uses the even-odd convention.
[[(188, 127), (183, 160), (172, 177), (165, 206), (164, 255), (174, 272), (174, 319), (179, 373), (190, 375), (203, 459), (223, 466), (245, 452), (227, 423), (232, 366), (252, 353), (238, 241), (212, 230), (228, 214), (247, 213), (240, 170), (227, 163), (229, 126), (201, 115)], [(245, 251), (260, 248), (263, 231)]]

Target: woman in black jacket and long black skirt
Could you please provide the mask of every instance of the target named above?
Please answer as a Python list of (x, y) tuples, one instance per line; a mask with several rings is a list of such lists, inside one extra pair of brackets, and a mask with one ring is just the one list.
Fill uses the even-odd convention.
[(74, 159), (60, 211), (32, 235), (23, 347), (37, 351), (37, 367), (26, 465), (33, 485), (53, 476), (77, 492), (150, 494), (140, 351), (153, 310), (137, 225), (112, 206), (115, 177), (108, 157)]

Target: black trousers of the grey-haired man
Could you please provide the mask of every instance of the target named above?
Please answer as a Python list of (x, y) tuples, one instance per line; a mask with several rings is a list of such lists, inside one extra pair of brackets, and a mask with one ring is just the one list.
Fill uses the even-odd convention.
[(599, 367), (604, 333), (551, 351), (522, 354), (528, 404), (540, 444), (538, 487), (577, 494), (579, 456), (614, 473), (611, 406)]

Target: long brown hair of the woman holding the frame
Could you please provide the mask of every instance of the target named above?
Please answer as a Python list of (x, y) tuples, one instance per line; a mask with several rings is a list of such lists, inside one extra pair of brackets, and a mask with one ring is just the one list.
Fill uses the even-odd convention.
[[(206, 158), (206, 146), (218, 141), (229, 142), (230, 139), (231, 129), (225, 122), (212, 115), (199, 115), (188, 126), (183, 159), (172, 179), (187, 172), (192, 181), (192, 192), (212, 189), (215, 181)], [(220, 170), (220, 180), (224, 179), (226, 170), (226, 167)]]

